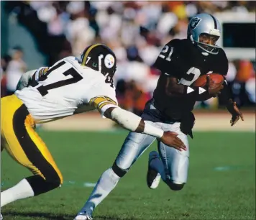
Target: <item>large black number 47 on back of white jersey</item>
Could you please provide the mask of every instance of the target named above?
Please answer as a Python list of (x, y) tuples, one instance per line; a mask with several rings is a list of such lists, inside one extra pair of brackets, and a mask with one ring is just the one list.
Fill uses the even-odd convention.
[[(62, 65), (65, 65), (65, 61), (62, 61), (62, 62), (58, 63), (58, 65), (55, 65), (52, 68), (50, 68), (50, 70), (48, 70), (44, 75), (42, 75), (40, 77), (39, 81), (45, 81), (47, 79), (47, 75), (52, 73), (53, 70), (56, 70), (56, 69), (60, 68), (60, 66), (62, 66)], [(77, 83), (78, 81), (81, 81), (83, 79), (83, 77), (74, 68), (70, 68), (68, 70), (65, 70), (65, 72), (63, 72), (62, 74), (65, 75), (65, 76), (71, 75), (72, 78), (68, 78), (68, 79), (63, 80), (63, 81), (58, 81), (58, 82), (55, 82), (55, 83), (51, 83), (51, 84), (48, 84), (46, 86), (39, 86), (37, 88), (37, 90), (40, 92), (40, 94), (42, 96), (45, 96), (45, 95), (47, 95), (48, 90), (50, 90), (50, 89), (60, 88), (62, 86), (67, 86), (67, 85), (70, 85), (70, 84), (73, 84), (73, 83)], [(38, 83), (37, 83), (37, 85), (38, 85)], [(37, 86), (37, 85), (35, 85), (35, 83), (34, 83), (33, 86)]]

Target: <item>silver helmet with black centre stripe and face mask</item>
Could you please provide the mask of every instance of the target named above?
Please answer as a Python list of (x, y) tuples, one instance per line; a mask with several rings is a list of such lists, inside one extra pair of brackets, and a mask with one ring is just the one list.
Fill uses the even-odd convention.
[(201, 35), (214, 36), (216, 37), (216, 41), (221, 35), (221, 24), (211, 14), (196, 14), (191, 18), (188, 24), (188, 39), (203, 50), (204, 55), (208, 55), (209, 53), (218, 54), (220, 47), (215, 45), (216, 42), (214, 42), (214, 45), (200, 42)]

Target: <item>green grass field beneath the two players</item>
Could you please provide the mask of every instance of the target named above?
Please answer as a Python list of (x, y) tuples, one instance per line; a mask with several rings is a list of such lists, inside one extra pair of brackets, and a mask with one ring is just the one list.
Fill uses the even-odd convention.
[[(71, 220), (109, 168), (127, 132), (40, 132), (64, 177), (62, 188), (6, 205), (4, 220)], [(255, 219), (255, 133), (195, 132), (188, 183), (152, 191), (145, 181), (150, 147), (94, 212), (94, 219)], [(6, 152), (2, 190), (30, 175)]]

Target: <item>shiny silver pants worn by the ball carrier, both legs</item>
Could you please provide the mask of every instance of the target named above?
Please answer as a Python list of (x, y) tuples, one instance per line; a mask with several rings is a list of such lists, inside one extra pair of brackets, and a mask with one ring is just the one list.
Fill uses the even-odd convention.
[[(165, 167), (165, 178), (172, 183), (186, 183), (188, 177), (189, 146), (188, 137), (180, 131), (180, 122), (161, 121), (160, 111), (155, 109), (154, 101), (145, 106), (142, 119), (164, 131), (176, 132), (178, 137), (187, 147), (186, 151), (175, 150), (173, 147), (157, 143), (160, 158)], [(130, 132), (122, 145), (119, 155), (116, 157), (116, 165), (122, 170), (128, 171), (132, 164), (142, 155), (145, 150), (155, 141), (155, 137), (147, 134)]]

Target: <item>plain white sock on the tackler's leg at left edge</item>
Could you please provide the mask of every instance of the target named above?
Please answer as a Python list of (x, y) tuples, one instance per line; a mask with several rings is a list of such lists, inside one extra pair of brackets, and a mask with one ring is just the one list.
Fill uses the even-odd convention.
[(1, 192), (1, 207), (8, 203), (12, 203), (13, 201), (32, 196), (34, 196), (34, 191), (32, 190), (29, 182), (27, 182), (26, 179), (23, 179), (12, 188)]

